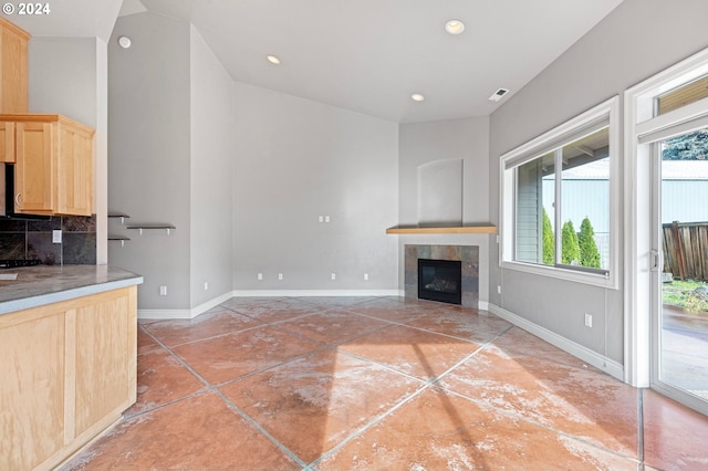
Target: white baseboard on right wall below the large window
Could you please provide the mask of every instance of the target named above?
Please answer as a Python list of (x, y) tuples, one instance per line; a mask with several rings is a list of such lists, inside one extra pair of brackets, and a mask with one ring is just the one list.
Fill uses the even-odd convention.
[[(591, 350), (587, 347), (584, 347), (580, 344), (576, 344), (573, 341), (569, 341), (568, 338), (558, 335), (554, 332), (549, 331), (545, 327), (541, 327), (538, 324), (534, 324), (510, 311), (504, 310), (503, 307), (499, 307), (496, 304), (488, 303), (488, 310), (490, 313), (498, 315), (499, 317), (509, 321), (513, 325), (523, 328), (524, 331), (535, 335), (539, 338), (544, 339), (551, 345), (555, 345), (560, 349), (568, 352), (582, 359), (583, 362), (594, 366), (597, 369), (602, 369), (610, 376), (624, 381), (624, 366), (613, 359), (610, 359), (603, 355), (600, 355), (596, 352)], [(481, 308), (481, 302), (480, 302)]]

